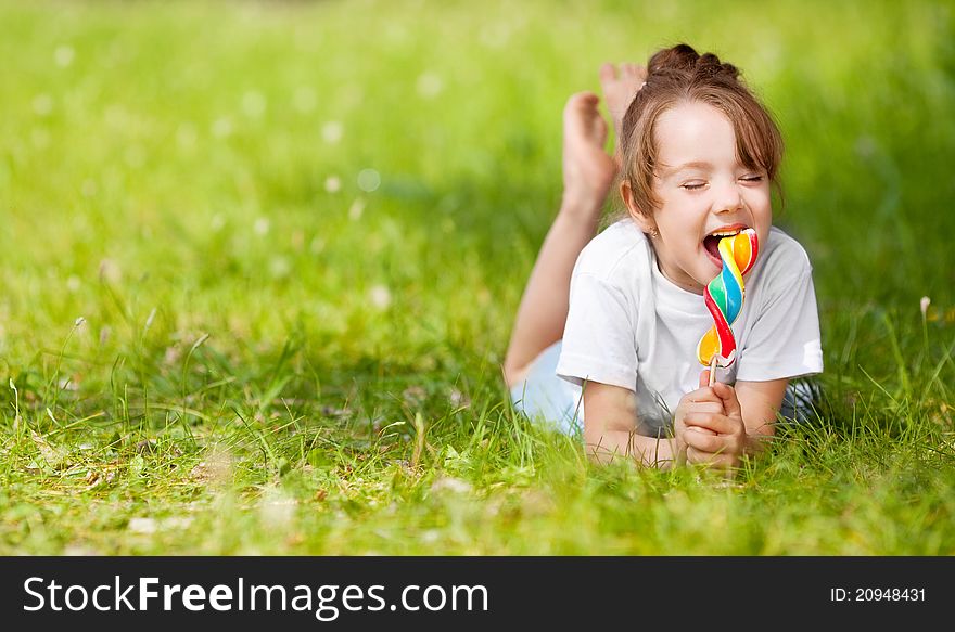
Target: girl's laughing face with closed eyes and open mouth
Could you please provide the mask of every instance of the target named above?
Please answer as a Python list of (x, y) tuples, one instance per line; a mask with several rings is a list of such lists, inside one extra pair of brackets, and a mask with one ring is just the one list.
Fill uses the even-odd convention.
[(741, 165), (729, 119), (711, 105), (683, 103), (657, 119), (659, 166), (653, 193), (661, 201), (645, 229), (660, 271), (696, 294), (716, 276), (723, 262), (714, 233), (755, 229), (761, 246), (773, 223), (769, 182), (764, 171)]

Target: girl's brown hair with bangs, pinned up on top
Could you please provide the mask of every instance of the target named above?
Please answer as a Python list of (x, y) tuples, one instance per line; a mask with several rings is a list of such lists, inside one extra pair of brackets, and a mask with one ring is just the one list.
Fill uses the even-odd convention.
[(736, 153), (749, 169), (766, 172), (781, 196), (778, 172), (782, 137), (763, 104), (739, 78), (739, 69), (712, 53), (700, 55), (685, 43), (662, 49), (650, 57), (647, 82), (623, 117), (621, 130), (622, 181), (629, 184), (641, 215), (660, 206), (653, 195), (657, 168), (657, 120), (686, 102), (712, 105), (733, 124)]

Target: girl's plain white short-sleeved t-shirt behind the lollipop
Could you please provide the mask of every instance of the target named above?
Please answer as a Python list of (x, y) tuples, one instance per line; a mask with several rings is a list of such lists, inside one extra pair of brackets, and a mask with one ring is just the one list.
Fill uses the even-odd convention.
[[(720, 382), (765, 382), (823, 371), (812, 266), (778, 228), (747, 274), (746, 300), (733, 324), (737, 358)], [(637, 394), (640, 434), (668, 426), (679, 399), (699, 388), (697, 344), (713, 326), (702, 295), (667, 280), (650, 242), (629, 219), (584, 248), (574, 266), (570, 311), (557, 374)], [(578, 414), (583, 417), (583, 409)]]

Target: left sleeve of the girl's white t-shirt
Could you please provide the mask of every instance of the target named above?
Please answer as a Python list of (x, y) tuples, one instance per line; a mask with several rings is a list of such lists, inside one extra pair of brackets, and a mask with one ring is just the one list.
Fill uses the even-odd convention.
[(593, 274), (576, 274), (557, 374), (576, 385), (586, 379), (634, 390), (634, 317), (619, 287)]

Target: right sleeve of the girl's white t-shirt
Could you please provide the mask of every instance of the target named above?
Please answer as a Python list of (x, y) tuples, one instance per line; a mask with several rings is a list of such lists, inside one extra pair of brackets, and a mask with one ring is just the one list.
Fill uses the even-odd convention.
[(794, 378), (823, 372), (819, 314), (812, 269), (769, 297), (740, 349), (736, 378), (749, 382)]

